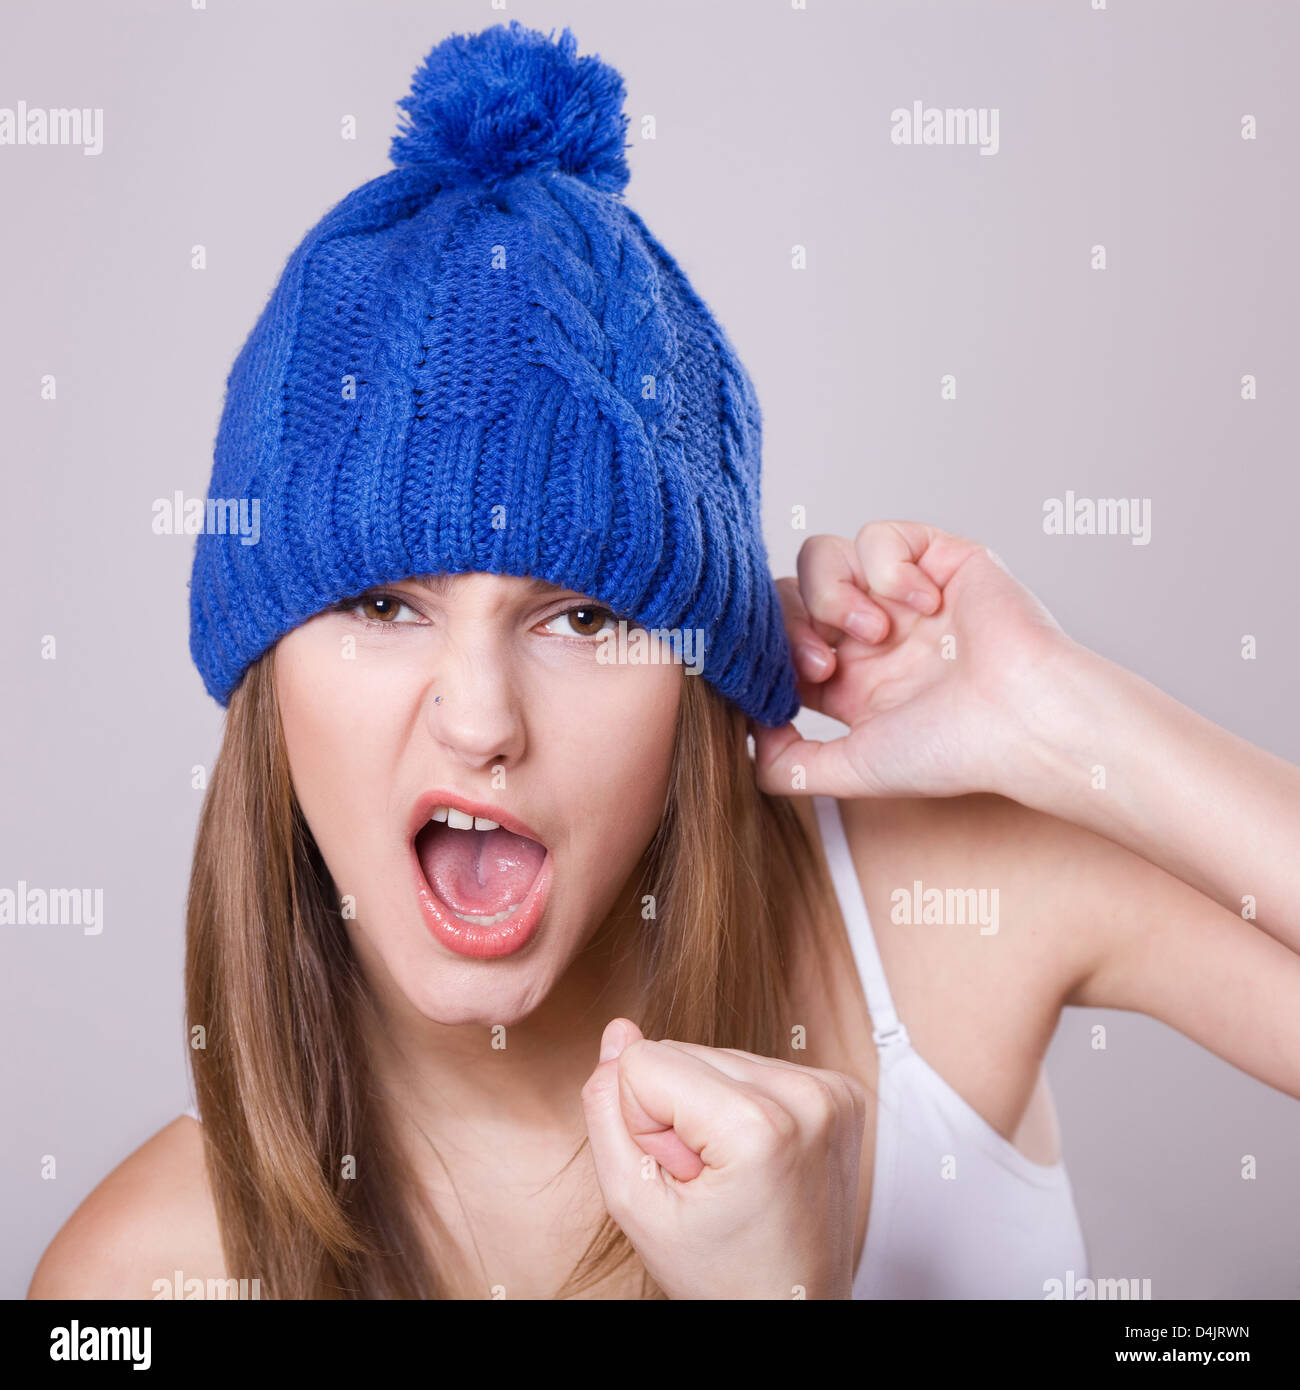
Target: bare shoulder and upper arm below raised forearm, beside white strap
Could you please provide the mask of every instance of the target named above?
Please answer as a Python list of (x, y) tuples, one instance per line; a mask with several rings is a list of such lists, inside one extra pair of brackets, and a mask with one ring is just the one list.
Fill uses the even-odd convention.
[[(1062, 1006), (1126, 1009), (1167, 1023), (1242, 1072), (1300, 1099), (1300, 955), (1199, 890), (1080, 826), (1004, 796), (848, 803), (845, 830), (898, 991), (939, 991), (959, 1038), (990, 1068), (927, 1045), (941, 1074), (996, 1126), (1014, 1059), (1041, 1056)], [(895, 926), (890, 892), (998, 890), (997, 930)], [(959, 1044), (969, 1051), (969, 1041)], [(1019, 1090), (1016, 1090), (1019, 1086)], [(1021, 1111), (1012, 1105), (1015, 1115)]]

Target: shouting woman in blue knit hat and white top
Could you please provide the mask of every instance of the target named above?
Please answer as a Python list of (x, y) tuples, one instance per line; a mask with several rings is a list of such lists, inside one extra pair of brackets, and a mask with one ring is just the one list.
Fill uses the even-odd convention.
[(619, 200), (619, 75), (512, 24), (403, 106), (228, 382), (210, 498), (260, 538), (195, 560), (197, 1113), (32, 1295), (1078, 1283), (1064, 1005), (1300, 1095), (1300, 773), (930, 527), (773, 587), (752, 385)]

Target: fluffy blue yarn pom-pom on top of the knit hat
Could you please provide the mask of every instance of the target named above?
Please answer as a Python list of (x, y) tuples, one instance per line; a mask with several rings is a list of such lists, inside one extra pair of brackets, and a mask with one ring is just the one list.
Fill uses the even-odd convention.
[(431, 167), (449, 185), (556, 170), (619, 193), (628, 179), (623, 97), (617, 70), (580, 58), (569, 29), (558, 43), (517, 19), (453, 33), (398, 103), (389, 158)]

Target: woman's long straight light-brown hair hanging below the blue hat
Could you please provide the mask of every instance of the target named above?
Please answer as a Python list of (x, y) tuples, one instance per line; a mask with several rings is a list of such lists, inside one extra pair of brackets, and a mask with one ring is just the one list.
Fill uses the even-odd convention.
[[(267, 653), (231, 698), (186, 915), (186, 1027), (227, 1272), (271, 1298), (450, 1297), (453, 1247), (374, 1083), (374, 1005), (293, 794), (273, 673)], [(698, 678), (683, 680), (642, 867), (656, 903), (638, 948), (642, 1033), (790, 1058), (790, 934), (824, 930), (831, 890), (790, 801), (756, 788), (744, 714)], [(628, 1259), (606, 1216), (556, 1297)], [(644, 1270), (641, 1290), (662, 1297)]]

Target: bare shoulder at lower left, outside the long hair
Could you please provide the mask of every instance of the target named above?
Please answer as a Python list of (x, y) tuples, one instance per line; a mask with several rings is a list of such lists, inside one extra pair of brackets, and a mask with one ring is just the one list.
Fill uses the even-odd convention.
[[(188, 1115), (125, 1158), (46, 1250), (28, 1298), (153, 1298), (156, 1280), (224, 1277), (203, 1131)], [(175, 1297), (175, 1293), (172, 1294)]]

